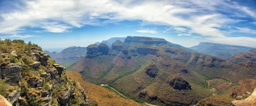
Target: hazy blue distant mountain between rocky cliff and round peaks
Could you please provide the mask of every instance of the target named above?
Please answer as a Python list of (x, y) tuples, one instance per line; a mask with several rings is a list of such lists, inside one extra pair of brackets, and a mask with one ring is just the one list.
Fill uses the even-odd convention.
[(62, 50), (60, 53), (49, 51), (44, 52), (49, 54), (51, 58), (55, 60), (57, 63), (65, 66), (65, 64), (67, 63), (73, 63), (77, 60), (80, 60), (82, 57), (84, 57), (87, 50), (86, 47), (71, 46)]

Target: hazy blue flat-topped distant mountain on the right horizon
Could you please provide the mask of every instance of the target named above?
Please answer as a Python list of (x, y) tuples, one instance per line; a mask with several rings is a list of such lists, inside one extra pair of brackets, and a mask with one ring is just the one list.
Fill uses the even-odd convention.
[(220, 57), (223, 59), (227, 59), (231, 57), (233, 54), (247, 52), (251, 47), (246, 46), (235, 46), (235, 45), (227, 45), (220, 43), (209, 43), (209, 42), (201, 42), (198, 46), (190, 47), (189, 49), (193, 49), (203, 54), (212, 55), (215, 57)]

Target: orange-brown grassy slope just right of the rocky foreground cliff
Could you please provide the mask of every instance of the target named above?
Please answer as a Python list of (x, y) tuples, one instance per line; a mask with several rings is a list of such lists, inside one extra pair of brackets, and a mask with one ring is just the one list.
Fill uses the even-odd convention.
[(90, 105), (98, 104), (98, 106), (139, 106), (138, 103), (124, 99), (102, 86), (97, 86), (93, 83), (83, 80), (81, 74), (78, 72), (68, 71), (67, 76), (81, 84), (87, 96), (90, 97)]

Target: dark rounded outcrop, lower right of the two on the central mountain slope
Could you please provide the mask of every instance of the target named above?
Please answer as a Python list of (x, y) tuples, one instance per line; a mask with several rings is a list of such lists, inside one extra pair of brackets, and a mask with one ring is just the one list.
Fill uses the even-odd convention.
[(172, 88), (177, 89), (177, 90), (191, 90), (191, 86), (189, 82), (184, 80), (182, 77), (173, 77), (171, 80), (168, 82)]

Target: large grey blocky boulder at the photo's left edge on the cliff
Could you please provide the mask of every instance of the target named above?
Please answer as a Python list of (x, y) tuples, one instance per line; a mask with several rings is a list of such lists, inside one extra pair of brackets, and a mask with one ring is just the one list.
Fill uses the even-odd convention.
[(11, 63), (6, 66), (1, 66), (2, 79), (5, 79), (8, 84), (19, 82), (22, 79), (20, 76), (21, 65), (21, 63)]

